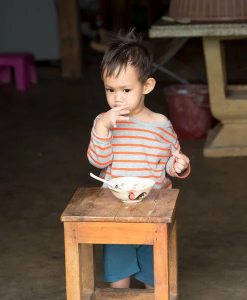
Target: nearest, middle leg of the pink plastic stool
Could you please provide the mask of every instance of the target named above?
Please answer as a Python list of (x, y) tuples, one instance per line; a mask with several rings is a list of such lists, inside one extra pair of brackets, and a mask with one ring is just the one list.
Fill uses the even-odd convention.
[(27, 89), (29, 80), (29, 69), (26, 60), (21, 59), (14, 65), (15, 84), (18, 90)]

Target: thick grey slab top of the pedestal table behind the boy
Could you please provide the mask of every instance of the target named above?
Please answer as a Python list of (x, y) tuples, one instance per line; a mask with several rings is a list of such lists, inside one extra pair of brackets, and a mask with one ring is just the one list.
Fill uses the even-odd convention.
[(181, 24), (160, 18), (148, 31), (150, 38), (198, 36), (247, 36), (247, 22), (190, 22)]

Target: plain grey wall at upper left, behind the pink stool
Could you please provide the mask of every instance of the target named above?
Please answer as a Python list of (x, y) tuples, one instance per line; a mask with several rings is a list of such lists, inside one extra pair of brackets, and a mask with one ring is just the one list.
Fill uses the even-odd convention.
[(59, 58), (52, 0), (0, 0), (0, 52), (30, 51), (37, 60)]

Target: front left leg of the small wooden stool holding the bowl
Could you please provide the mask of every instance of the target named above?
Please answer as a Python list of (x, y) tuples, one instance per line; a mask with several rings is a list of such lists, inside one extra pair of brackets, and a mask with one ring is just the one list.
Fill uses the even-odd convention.
[(64, 243), (67, 300), (82, 300), (76, 223), (64, 222)]

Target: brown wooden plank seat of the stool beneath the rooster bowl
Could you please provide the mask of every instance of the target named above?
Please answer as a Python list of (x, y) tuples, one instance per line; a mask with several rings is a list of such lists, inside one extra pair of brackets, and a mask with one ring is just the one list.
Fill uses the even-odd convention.
[(152, 189), (141, 202), (124, 203), (108, 188), (78, 188), (61, 221), (171, 223), (179, 189)]

